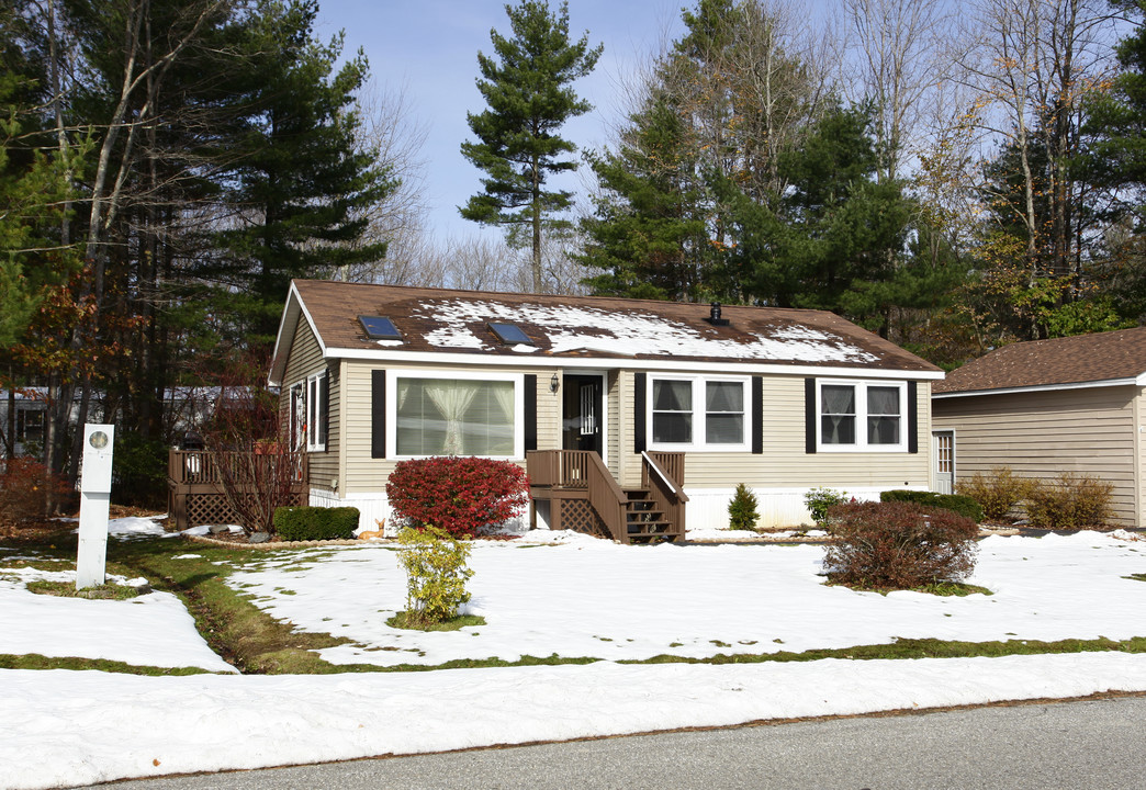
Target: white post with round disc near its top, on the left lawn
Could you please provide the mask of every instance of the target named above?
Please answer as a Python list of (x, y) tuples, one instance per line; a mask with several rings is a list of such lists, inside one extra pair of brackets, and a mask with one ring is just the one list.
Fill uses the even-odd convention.
[(111, 451), (116, 426), (84, 426), (84, 466), (79, 482), (79, 553), (76, 588), (103, 584), (108, 568), (108, 506), (111, 504)]

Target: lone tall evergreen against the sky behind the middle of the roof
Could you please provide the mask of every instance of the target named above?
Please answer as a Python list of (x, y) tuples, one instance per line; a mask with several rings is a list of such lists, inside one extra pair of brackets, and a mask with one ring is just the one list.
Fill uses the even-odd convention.
[(567, 190), (547, 190), (549, 176), (576, 169), (562, 158), (576, 147), (557, 135), (570, 118), (592, 106), (578, 98), (571, 82), (597, 64), (602, 47), (589, 47), (588, 33), (572, 42), (568, 3), (555, 15), (545, 0), (505, 6), (512, 37), (489, 31), (494, 56), (478, 53), (477, 80), (489, 109), (468, 113), (478, 142), (462, 143), (462, 153), (487, 177), (482, 191), (461, 208), (462, 216), (482, 224), (509, 228), (511, 242), (529, 238), (533, 287), (541, 286), (542, 232), (547, 226), (566, 227), (555, 216), (571, 205)]

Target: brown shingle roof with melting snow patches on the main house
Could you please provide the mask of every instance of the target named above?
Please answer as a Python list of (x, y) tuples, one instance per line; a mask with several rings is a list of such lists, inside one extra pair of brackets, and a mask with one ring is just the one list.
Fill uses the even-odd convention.
[[(359, 316), (386, 317), (401, 334), (370, 339)], [(270, 380), (278, 382), (298, 321), (309, 322), (327, 357), (500, 357), (509, 364), (562, 365), (603, 360), (886, 370), (913, 378), (942, 371), (832, 313), (711, 307), (602, 297), (488, 293), (295, 281), (283, 311)], [(516, 324), (531, 342), (503, 342), (490, 324)]]

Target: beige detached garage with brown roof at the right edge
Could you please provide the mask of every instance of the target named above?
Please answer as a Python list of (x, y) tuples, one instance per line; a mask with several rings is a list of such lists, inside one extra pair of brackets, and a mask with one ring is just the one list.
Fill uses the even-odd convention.
[(933, 388), (936, 483), (992, 466), (1114, 485), (1116, 520), (1143, 523), (1146, 327), (1003, 346)]

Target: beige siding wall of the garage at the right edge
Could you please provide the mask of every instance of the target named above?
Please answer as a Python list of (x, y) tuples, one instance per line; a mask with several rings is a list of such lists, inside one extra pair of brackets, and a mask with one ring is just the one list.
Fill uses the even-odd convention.
[(955, 430), (956, 487), (1010, 466), (1025, 477), (1086, 474), (1114, 485), (1113, 506), (1136, 523), (1137, 387), (1092, 387), (940, 398), (935, 427)]

